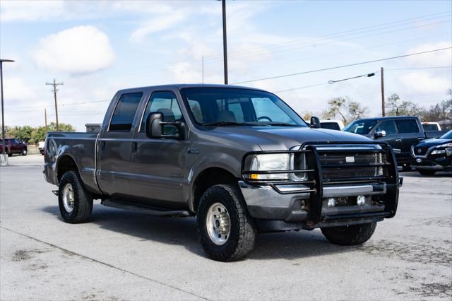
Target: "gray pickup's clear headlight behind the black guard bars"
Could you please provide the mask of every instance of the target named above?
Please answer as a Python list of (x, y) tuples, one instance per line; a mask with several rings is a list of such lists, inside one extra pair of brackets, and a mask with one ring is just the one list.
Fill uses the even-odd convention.
[[(253, 171), (283, 171), (290, 170), (290, 158), (289, 153), (269, 153), (262, 155), (251, 155), (246, 158), (246, 166), (249, 166), (249, 170)], [(268, 174), (258, 174), (251, 173), (246, 175), (249, 179), (289, 179), (288, 173), (268, 173)]]

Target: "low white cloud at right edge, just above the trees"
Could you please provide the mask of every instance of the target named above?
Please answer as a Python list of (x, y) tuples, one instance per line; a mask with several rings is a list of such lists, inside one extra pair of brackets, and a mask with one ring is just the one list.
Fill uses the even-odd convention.
[(399, 80), (411, 93), (441, 94), (451, 88), (450, 78), (433, 76), (428, 72), (406, 73)]

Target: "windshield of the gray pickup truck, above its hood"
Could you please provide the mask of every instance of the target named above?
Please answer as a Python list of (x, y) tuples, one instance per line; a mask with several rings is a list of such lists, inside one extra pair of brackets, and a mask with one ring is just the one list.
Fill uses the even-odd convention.
[(240, 88), (184, 88), (181, 93), (200, 125), (307, 126), (271, 93)]

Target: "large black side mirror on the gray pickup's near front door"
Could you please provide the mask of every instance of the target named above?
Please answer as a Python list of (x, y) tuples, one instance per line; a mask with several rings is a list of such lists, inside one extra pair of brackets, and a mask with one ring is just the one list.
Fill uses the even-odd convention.
[[(174, 126), (177, 134), (168, 135), (164, 133), (165, 125)], [(148, 138), (172, 138), (184, 139), (184, 123), (182, 122), (165, 122), (162, 112), (152, 112), (146, 118), (145, 134)]]

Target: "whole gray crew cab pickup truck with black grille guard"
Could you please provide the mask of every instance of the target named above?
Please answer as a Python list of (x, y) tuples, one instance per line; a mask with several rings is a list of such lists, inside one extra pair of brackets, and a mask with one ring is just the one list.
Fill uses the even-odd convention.
[(276, 95), (228, 85), (120, 90), (99, 133), (47, 134), (44, 176), (67, 223), (93, 199), (157, 216), (196, 216), (206, 254), (244, 258), (258, 232), (313, 230), (369, 240), (398, 203), (393, 151), (308, 126)]

